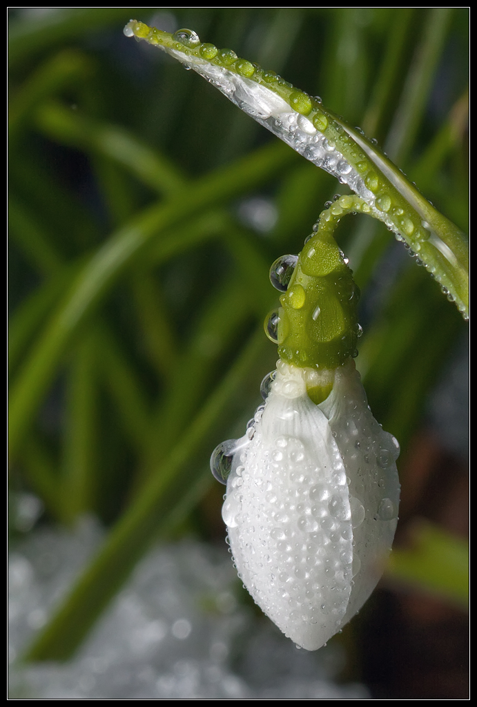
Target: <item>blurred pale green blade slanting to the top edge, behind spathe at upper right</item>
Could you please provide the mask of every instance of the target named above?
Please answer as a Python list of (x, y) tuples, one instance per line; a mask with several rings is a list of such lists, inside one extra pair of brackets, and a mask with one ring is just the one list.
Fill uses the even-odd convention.
[(435, 70), (442, 56), (452, 7), (429, 8), (423, 39), (410, 65), (399, 108), (389, 129), (384, 150), (391, 159), (406, 165), (423, 118)]

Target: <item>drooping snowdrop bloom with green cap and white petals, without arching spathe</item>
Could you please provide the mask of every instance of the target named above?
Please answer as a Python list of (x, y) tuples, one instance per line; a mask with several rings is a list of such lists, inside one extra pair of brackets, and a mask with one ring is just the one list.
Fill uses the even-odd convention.
[[(344, 211), (362, 206), (341, 199)], [(266, 332), (281, 360), (262, 382), (265, 403), (245, 436), (211, 457), (227, 484), (222, 515), (237, 571), (307, 650), (324, 645), (375, 588), (399, 507), (399, 445), (372, 416), (355, 370), (358, 288), (331, 237), (332, 210), (299, 257), (271, 268), (283, 295)]]

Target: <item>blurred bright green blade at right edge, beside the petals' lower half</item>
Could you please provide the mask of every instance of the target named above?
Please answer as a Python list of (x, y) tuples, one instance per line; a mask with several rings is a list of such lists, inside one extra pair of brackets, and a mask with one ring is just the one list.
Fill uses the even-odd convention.
[(428, 521), (414, 525), (409, 549), (392, 551), (386, 575), (469, 608), (469, 542)]

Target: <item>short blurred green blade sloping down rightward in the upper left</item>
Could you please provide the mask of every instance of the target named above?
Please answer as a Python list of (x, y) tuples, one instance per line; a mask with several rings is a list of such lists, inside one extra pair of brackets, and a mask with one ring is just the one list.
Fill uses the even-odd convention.
[(165, 156), (122, 127), (78, 114), (58, 101), (42, 105), (36, 122), (51, 139), (114, 160), (155, 192), (171, 195), (186, 184)]

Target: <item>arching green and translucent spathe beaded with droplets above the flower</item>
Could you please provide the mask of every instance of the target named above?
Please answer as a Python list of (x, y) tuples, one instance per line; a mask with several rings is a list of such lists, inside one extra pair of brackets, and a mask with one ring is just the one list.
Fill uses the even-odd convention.
[[(447, 21), (444, 10), (433, 15), (439, 36)], [(262, 71), (231, 49), (201, 42), (192, 30), (177, 30), (170, 35), (131, 20), (124, 33), (146, 40), (190, 66), (273, 134), (347, 183), (394, 231), (396, 238), (406, 241), (416, 252), (464, 317), (469, 316), (469, 257), (463, 233), (359, 129), (348, 126), (319, 100), (294, 88), (273, 71)], [(439, 42), (432, 42), (431, 37), (426, 46), (429, 51), (423, 60), (424, 68), (416, 74), (419, 81), (428, 76)], [(420, 86), (419, 81), (413, 86)], [(413, 119), (415, 114), (408, 115)], [(329, 158), (331, 151), (336, 158)]]

